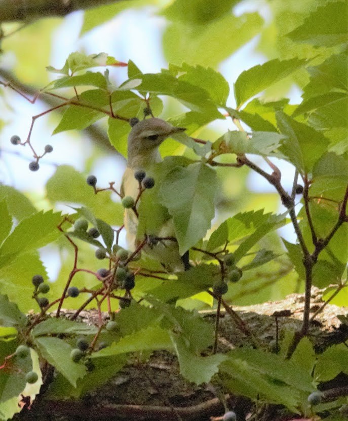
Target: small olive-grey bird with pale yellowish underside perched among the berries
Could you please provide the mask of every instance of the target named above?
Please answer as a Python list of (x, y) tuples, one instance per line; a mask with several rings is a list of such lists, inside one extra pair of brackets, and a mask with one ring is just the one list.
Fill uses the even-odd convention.
[[(159, 146), (167, 137), (183, 132), (185, 128), (175, 127), (156, 117), (142, 121), (133, 118), (130, 124), (132, 129), (128, 136), (128, 161), (122, 178), (121, 195), (136, 199), (139, 193), (139, 181), (135, 178), (136, 172), (143, 171), (146, 175), (151, 174), (154, 165), (162, 162)], [(138, 217), (134, 209), (125, 209), (124, 226), (131, 251), (135, 251), (144, 240), (144, 237), (141, 238), (138, 233), (139, 218), (143, 217), (147, 219), (147, 226), (149, 226), (146, 228), (149, 232), (145, 231), (143, 234), (150, 241), (144, 245), (141, 253), (159, 261), (169, 273), (189, 269), (188, 253), (180, 256), (179, 245), (175, 240), (173, 219), (169, 215), (168, 209), (159, 203), (152, 206), (151, 192), (147, 190), (140, 196), (136, 209), (139, 209), (142, 200), (147, 200), (146, 212), (148, 215), (139, 215)], [(153, 221), (156, 223), (152, 224)], [(161, 240), (161, 238), (167, 239)]]

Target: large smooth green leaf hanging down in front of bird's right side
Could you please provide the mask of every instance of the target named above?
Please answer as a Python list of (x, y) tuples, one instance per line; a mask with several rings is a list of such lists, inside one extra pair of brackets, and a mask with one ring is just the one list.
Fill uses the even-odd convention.
[(158, 198), (173, 217), (180, 255), (210, 228), (216, 185), (216, 172), (200, 162), (174, 168), (162, 181)]

